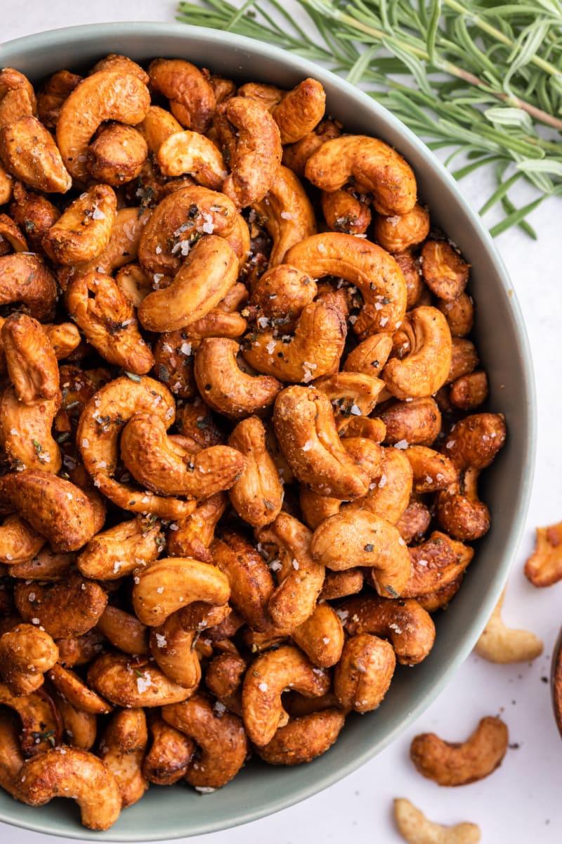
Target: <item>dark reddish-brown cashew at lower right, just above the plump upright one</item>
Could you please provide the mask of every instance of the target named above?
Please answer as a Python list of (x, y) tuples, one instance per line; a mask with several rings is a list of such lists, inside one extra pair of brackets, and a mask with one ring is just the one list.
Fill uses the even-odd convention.
[(349, 598), (340, 603), (345, 630), (350, 636), (372, 633), (389, 639), (401, 665), (417, 665), (426, 658), (435, 641), (430, 614), (412, 598), (393, 600), (377, 595)]

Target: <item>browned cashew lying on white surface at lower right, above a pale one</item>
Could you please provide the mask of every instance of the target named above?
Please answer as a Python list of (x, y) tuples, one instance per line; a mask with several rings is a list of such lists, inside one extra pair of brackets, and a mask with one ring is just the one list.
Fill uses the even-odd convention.
[(462, 744), (443, 741), (435, 733), (415, 736), (409, 755), (420, 774), (437, 785), (463, 786), (495, 771), (506, 755), (507, 742), (506, 724), (485, 717)]

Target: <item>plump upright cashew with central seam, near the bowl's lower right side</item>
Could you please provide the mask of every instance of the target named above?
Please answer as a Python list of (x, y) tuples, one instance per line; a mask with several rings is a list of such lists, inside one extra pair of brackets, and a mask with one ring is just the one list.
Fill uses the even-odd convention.
[(345, 711), (377, 709), (393, 678), (396, 657), (392, 645), (369, 633), (345, 642), (334, 669), (335, 696)]

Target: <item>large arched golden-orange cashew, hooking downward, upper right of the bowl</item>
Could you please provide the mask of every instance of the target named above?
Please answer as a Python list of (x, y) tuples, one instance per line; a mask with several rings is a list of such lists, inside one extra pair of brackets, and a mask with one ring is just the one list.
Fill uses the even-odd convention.
[(404, 321), (406, 283), (398, 263), (371, 241), (340, 232), (312, 235), (286, 253), (284, 261), (318, 279), (334, 275), (355, 284), (363, 297), (354, 332), (365, 339), (391, 333)]

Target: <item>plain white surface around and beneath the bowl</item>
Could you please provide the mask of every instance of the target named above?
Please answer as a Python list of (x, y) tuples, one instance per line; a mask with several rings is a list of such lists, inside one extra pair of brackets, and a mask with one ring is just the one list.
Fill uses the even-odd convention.
[[(286, 8), (292, 5), (292, 0), (284, 3)], [(174, 11), (175, 3), (168, 0), (3, 0), (0, 25), (3, 41), (8, 41), (72, 24), (171, 22)], [(468, 177), (461, 187), (474, 208), (489, 195), (482, 176)], [(504, 618), (508, 625), (527, 627), (541, 636), (543, 657), (532, 665), (496, 666), (472, 655), (408, 732), (359, 771), (305, 803), (235, 830), (191, 838), (193, 844), (397, 844), (402, 839), (393, 827), (394, 797), (408, 797), (432, 820), (472, 820), (480, 825), (483, 841), (489, 844), (562, 841), (562, 741), (551, 715), (549, 684), (544, 682), (562, 624), (562, 583), (537, 590), (522, 574), (533, 549), (534, 527), (562, 519), (561, 212), (561, 201), (552, 199), (533, 213), (537, 242), (518, 230), (496, 241), (525, 316), (538, 396), (533, 496), (522, 545), (513, 560)], [(480, 717), (498, 713), (509, 727), (511, 743), (518, 748), (508, 750), (500, 769), (483, 782), (442, 789), (423, 779), (409, 763), (409, 742), (417, 733), (435, 731), (448, 740), (462, 741)], [(47, 841), (45, 836), (3, 824), (0, 836), (13, 844)]]

